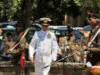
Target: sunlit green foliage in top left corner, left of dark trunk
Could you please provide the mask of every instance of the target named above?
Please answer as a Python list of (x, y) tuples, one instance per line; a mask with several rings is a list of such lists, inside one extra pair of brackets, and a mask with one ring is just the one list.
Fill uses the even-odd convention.
[(1, 0), (0, 1), (0, 21), (13, 20), (20, 0)]

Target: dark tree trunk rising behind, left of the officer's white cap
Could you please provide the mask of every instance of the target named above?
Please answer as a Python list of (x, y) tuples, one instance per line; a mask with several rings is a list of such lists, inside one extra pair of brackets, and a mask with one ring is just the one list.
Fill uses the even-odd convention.
[(32, 5), (34, 0), (23, 0), (21, 6), (22, 17), (20, 17), (20, 21), (22, 21), (22, 27), (25, 29), (31, 25), (32, 18)]

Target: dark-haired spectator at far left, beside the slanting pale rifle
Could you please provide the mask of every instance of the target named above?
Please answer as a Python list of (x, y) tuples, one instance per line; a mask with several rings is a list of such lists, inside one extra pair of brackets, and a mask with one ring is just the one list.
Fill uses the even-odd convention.
[(8, 53), (9, 48), (13, 47), (15, 45), (15, 38), (14, 36), (8, 32), (6, 36), (4, 37), (4, 52), (2, 54), (2, 60), (8, 61), (12, 59), (12, 55)]

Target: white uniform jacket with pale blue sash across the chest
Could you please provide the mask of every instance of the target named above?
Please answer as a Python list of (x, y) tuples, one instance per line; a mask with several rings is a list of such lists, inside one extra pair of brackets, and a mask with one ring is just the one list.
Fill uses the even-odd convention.
[(52, 61), (56, 61), (58, 50), (59, 46), (54, 33), (37, 31), (29, 45), (29, 58), (33, 61), (35, 53), (35, 62), (50, 65)]

